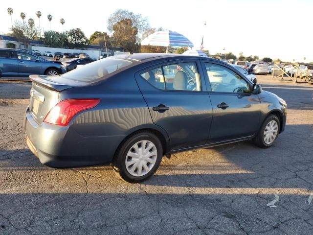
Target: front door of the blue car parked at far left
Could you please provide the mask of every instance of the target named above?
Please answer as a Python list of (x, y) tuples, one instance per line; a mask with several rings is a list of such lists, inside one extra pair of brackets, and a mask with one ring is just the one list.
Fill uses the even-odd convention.
[(42, 59), (24, 51), (18, 51), (17, 55), (20, 75), (44, 74), (45, 68)]

